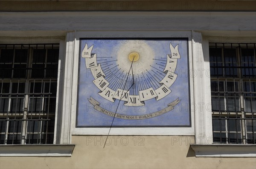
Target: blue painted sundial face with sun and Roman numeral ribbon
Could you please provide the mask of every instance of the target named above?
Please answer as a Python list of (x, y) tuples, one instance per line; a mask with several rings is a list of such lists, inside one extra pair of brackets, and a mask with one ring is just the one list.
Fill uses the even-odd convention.
[[(89, 122), (89, 126), (108, 126), (106, 121), (110, 120), (109, 117), (118, 118), (115, 120), (116, 126), (138, 126), (143, 120), (164, 116), (181, 99), (189, 103), (188, 77), (178, 80), (178, 83), (183, 82), (185, 85), (177, 84), (186, 86), (179, 90), (180, 94), (187, 91), (187, 97), (183, 99), (183, 96), (178, 96), (177, 91), (172, 96), (172, 86), (179, 79), (177, 64), (184, 60), (186, 62), (183, 67), (187, 68), (186, 40), (181, 44), (180, 42), (152, 39), (81, 41), (80, 63), (83, 64), (80, 65), (79, 102), (87, 99), (87, 110), (84, 113), (89, 115), (81, 116), (86, 118), (85, 116), (93, 115), (95, 122)], [(180, 48), (185, 49), (181, 52), (184, 59), (181, 59)], [(81, 69), (85, 70), (87, 78), (84, 78)], [(86, 89), (82, 87), (83, 82)], [(185, 114), (187, 118), (184, 121), (189, 124), (189, 111)], [(102, 121), (99, 116), (107, 120)], [(150, 124), (150, 121), (145, 123)], [(154, 122), (153, 125), (157, 123), (159, 122)], [(164, 125), (167, 124), (168, 122)]]

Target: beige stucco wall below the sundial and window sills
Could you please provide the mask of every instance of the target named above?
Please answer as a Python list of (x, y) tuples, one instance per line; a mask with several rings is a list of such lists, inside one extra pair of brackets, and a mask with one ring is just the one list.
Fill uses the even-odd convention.
[(72, 157), (0, 157), (0, 169), (256, 168), (256, 158), (196, 158), (191, 136), (110, 136), (103, 149), (104, 138), (73, 136)]

